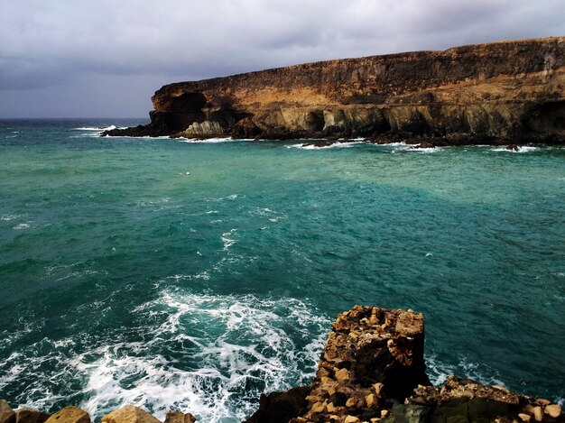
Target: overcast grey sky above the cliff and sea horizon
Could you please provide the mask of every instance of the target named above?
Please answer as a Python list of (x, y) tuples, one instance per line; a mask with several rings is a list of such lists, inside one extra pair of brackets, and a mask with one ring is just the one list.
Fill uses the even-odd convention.
[(164, 84), (565, 35), (565, 0), (0, 0), (0, 118), (147, 117)]

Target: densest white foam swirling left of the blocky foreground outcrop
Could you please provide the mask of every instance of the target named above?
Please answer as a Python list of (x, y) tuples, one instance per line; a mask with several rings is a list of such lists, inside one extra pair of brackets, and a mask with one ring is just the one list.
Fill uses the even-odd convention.
[[(83, 392), (88, 400), (80, 406), (92, 416), (133, 404), (160, 419), (165, 411), (180, 409), (199, 421), (242, 421), (264, 389), (284, 390), (310, 381), (329, 326), (297, 299), (169, 291), (134, 312), (166, 313), (166, 318), (145, 343), (102, 345), (72, 360), (86, 377)], [(304, 347), (293, 344), (287, 332), (291, 328), (309, 341)], [(161, 351), (165, 340), (187, 345), (184, 354), (199, 365), (190, 368), (162, 354), (145, 354)]]

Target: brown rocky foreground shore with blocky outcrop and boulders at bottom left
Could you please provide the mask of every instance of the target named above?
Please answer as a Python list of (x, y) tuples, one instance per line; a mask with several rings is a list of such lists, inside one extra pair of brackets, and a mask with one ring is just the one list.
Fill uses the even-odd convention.
[[(565, 422), (560, 404), (501, 386), (449, 376), (432, 386), (425, 372), (423, 316), (412, 310), (355, 306), (340, 314), (309, 386), (262, 395), (247, 423), (534, 423)], [(144, 409), (125, 406), (102, 423), (160, 423)], [(171, 411), (164, 423), (194, 423)], [(90, 423), (77, 407), (53, 415), (15, 411), (0, 400), (0, 423)]]

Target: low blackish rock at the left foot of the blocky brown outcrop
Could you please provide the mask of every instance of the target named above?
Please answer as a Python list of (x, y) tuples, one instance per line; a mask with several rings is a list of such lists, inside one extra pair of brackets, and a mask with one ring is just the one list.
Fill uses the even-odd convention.
[(286, 392), (263, 394), (259, 400), (259, 409), (245, 422), (287, 423), (306, 411), (306, 396), (309, 392), (310, 387), (299, 387)]

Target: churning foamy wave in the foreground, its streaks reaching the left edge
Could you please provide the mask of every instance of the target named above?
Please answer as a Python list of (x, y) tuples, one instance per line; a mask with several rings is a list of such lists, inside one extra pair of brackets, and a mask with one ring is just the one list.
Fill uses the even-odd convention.
[(161, 420), (179, 409), (199, 421), (242, 421), (263, 391), (310, 382), (329, 327), (300, 299), (175, 290), (133, 315), (137, 327), (43, 338), (11, 354), (0, 361), (0, 389), (24, 379), (21, 403), (50, 409), (73, 395), (97, 419), (131, 404)]

